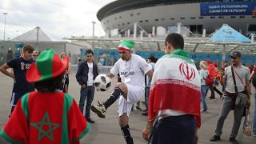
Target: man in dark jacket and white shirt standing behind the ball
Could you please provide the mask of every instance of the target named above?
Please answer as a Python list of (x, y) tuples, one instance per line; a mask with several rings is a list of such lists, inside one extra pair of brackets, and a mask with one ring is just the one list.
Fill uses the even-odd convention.
[(94, 123), (90, 118), (90, 106), (94, 100), (94, 79), (98, 76), (97, 63), (95, 63), (93, 59), (94, 52), (92, 50), (86, 50), (86, 61), (79, 65), (78, 72), (75, 75), (79, 85), (81, 86), (79, 108), (83, 114), (83, 108), (86, 102), (85, 118), (90, 123)]

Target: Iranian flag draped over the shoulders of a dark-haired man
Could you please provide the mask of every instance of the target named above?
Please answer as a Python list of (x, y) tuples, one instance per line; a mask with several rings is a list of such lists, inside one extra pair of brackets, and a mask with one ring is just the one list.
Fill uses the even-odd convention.
[(164, 55), (154, 67), (149, 120), (154, 120), (159, 110), (177, 110), (194, 115), (200, 127), (200, 86), (194, 62), (178, 54)]

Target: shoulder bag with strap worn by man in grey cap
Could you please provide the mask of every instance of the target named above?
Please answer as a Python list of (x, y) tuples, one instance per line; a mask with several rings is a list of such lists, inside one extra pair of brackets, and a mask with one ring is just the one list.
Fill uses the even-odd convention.
[[(232, 77), (233, 77), (233, 81), (234, 81), (234, 90), (235, 90), (235, 93), (237, 94), (237, 98), (235, 100), (235, 106), (244, 107), (244, 106), (246, 106), (246, 103), (248, 101), (248, 96), (246, 94), (241, 93), (241, 92), (238, 93), (238, 87), (237, 87), (235, 77), (234, 77), (234, 68), (233, 68), (233, 66), (231, 66), (231, 72), (232, 72)], [(242, 82), (242, 80), (239, 76), (238, 76), (238, 78)], [(243, 84), (243, 82), (242, 82), (242, 84)]]

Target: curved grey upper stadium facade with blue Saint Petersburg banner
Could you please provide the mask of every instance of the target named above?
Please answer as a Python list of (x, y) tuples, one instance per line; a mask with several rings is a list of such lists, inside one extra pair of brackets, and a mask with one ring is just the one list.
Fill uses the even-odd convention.
[(255, 0), (118, 0), (98, 10), (98, 20), (106, 34), (119, 34), (138, 22), (147, 33), (162, 26), (168, 32), (171, 26), (182, 23), (192, 34), (212, 34), (224, 23), (242, 34), (256, 33)]

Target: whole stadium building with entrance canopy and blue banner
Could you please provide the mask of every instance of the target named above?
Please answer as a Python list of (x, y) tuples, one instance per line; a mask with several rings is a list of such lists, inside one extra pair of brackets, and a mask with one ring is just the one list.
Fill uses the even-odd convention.
[[(67, 39), (79, 45), (87, 43), (81, 58), (92, 49), (96, 61), (104, 66), (112, 66), (118, 60), (117, 47), (122, 39), (133, 40), (133, 53), (142, 58), (161, 58), (166, 34), (174, 32), (183, 35), (184, 50), (196, 63), (211, 59), (221, 66), (230, 61), (229, 54), (234, 50), (242, 52), (244, 64), (256, 63), (255, 0), (118, 0), (98, 10), (97, 17), (106, 38), (93, 34), (92, 38)], [(244, 37), (242, 34), (250, 35), (250, 39), (234, 40)]]

